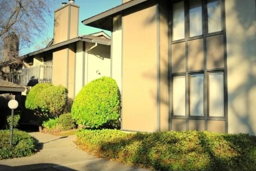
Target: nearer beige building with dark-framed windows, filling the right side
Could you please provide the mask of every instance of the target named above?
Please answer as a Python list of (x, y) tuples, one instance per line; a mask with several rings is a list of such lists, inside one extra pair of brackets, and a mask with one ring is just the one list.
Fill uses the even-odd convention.
[(112, 32), (125, 131), (256, 135), (256, 0), (123, 0)]

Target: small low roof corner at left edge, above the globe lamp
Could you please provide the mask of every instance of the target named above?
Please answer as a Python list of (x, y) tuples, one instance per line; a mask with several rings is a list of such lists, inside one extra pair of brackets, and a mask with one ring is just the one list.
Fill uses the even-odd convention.
[(0, 79), (0, 94), (10, 93), (10, 92), (24, 92), (24, 91), (25, 91), (25, 88), (23, 86)]

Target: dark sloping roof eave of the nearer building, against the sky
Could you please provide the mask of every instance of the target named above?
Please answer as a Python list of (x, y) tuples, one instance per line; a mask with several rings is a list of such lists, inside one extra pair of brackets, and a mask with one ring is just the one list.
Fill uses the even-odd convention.
[(111, 8), (103, 13), (99, 13), (91, 18), (82, 20), (81, 22), (86, 26), (92, 26), (108, 31), (112, 31), (112, 17), (121, 14), (124, 10), (128, 10), (131, 7), (134, 7), (142, 2), (149, 0), (130, 0), (126, 3), (123, 3), (117, 7)]

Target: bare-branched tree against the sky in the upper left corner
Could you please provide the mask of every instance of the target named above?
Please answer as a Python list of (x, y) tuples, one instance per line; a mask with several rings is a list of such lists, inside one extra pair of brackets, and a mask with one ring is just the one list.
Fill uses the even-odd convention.
[[(55, 0), (0, 0), (0, 70), (17, 70), (22, 59), (19, 50), (36, 45), (47, 32), (46, 16), (53, 14)], [(18, 36), (16, 43), (15, 36)], [(8, 38), (8, 39), (7, 39)], [(13, 39), (14, 38), (14, 39)], [(41, 42), (37, 42), (41, 44)], [(6, 68), (8, 66), (9, 68)]]

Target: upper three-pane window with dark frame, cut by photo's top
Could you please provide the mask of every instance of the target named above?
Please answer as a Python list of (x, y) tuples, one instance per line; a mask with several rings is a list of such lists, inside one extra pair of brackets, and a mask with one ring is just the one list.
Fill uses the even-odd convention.
[[(188, 9), (188, 11), (186, 9)], [(203, 22), (203, 18), (205, 22)], [(188, 21), (187, 19), (189, 22), (185, 24), (186, 21)], [(222, 1), (179, 1), (172, 6), (172, 21), (173, 41), (203, 35), (203, 29), (206, 30), (206, 33), (220, 32), (223, 30)], [(207, 26), (203, 26), (203, 23), (207, 23)], [(186, 27), (188, 28), (188, 35), (185, 33)]]

